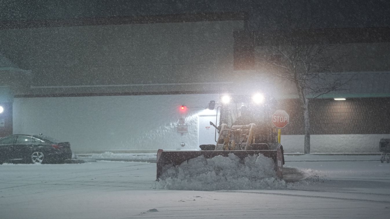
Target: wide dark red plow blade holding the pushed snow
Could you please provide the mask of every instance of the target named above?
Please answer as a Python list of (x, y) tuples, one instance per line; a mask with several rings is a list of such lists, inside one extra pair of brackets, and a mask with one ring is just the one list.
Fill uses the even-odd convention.
[(224, 156), (227, 157), (229, 154), (234, 154), (240, 159), (244, 159), (247, 156), (254, 154), (262, 154), (265, 157), (271, 158), (274, 162), (275, 171), (277, 172), (277, 177), (282, 179), (283, 177), (283, 147), (278, 147), (277, 150), (251, 150), (251, 151), (164, 151), (159, 149), (157, 152), (157, 175), (156, 180), (159, 180), (160, 176), (163, 174), (163, 168), (166, 165), (177, 166), (188, 161), (189, 159), (196, 158), (199, 156), (204, 156), (204, 158), (213, 158), (215, 156)]

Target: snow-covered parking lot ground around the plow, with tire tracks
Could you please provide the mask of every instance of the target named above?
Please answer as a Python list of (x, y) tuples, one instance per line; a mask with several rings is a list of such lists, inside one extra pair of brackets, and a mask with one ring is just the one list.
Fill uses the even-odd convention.
[[(334, 158), (333, 158), (334, 159)], [(342, 159), (341, 159), (342, 160)], [(0, 218), (387, 218), (390, 164), (287, 161), (308, 179), (289, 189), (156, 187), (156, 164), (0, 165)]]

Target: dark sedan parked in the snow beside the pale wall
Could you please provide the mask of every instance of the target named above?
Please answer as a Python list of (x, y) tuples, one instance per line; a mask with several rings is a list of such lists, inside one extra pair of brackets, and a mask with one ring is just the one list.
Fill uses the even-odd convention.
[(72, 158), (69, 142), (44, 135), (8, 135), (0, 138), (0, 164), (5, 162), (62, 163)]

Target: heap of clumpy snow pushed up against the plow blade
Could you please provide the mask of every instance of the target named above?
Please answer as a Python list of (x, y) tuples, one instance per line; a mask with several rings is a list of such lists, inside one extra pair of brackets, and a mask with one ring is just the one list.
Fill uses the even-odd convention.
[(284, 180), (276, 179), (274, 163), (262, 154), (246, 157), (243, 162), (234, 154), (228, 157), (203, 156), (165, 167), (156, 189), (213, 191), (223, 189), (284, 188)]

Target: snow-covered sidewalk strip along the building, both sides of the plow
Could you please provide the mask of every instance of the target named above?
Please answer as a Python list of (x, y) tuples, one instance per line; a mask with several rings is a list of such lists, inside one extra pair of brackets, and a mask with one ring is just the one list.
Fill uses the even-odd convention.
[[(156, 163), (156, 153), (76, 154), (77, 159), (90, 161), (135, 161)], [(285, 162), (329, 162), (329, 161), (379, 161), (378, 154), (285, 154)]]

